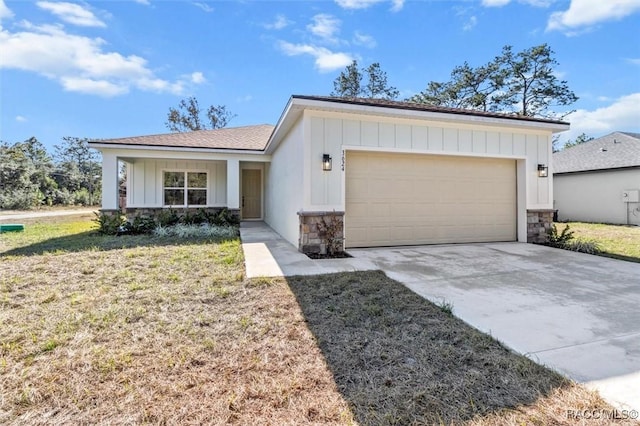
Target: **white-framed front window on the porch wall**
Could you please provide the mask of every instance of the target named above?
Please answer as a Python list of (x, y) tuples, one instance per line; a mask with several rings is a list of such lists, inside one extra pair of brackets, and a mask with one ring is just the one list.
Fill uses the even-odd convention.
[(164, 172), (165, 206), (205, 206), (207, 204), (206, 172)]

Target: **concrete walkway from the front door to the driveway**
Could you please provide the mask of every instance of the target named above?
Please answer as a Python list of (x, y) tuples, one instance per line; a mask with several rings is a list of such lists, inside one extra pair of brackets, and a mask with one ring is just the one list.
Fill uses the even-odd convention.
[(377, 269), (374, 263), (354, 257), (310, 259), (264, 222), (242, 222), (240, 237), (248, 278), (290, 277)]

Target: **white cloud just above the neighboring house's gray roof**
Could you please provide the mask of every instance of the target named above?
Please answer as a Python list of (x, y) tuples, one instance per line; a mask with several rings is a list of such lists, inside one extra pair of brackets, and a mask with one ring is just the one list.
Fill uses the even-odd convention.
[(575, 139), (581, 133), (596, 136), (617, 130), (640, 131), (640, 93), (622, 96), (593, 111), (579, 109), (565, 120), (571, 123), (571, 130), (562, 134), (562, 141)]

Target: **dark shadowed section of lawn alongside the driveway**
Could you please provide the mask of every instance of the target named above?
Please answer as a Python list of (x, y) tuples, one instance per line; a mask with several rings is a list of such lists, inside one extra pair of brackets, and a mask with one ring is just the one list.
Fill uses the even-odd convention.
[[(569, 381), (381, 272), (288, 282), (361, 424), (498, 424), (507, 419), (505, 408), (539, 414), (531, 408), (536, 404), (553, 407), (537, 424), (571, 423), (566, 410), (574, 407), (557, 405), (575, 392)], [(581, 405), (606, 407), (596, 396), (585, 398), (584, 389), (577, 392)], [(487, 415), (493, 417), (480, 418)], [(514, 424), (535, 419), (511, 415)]]

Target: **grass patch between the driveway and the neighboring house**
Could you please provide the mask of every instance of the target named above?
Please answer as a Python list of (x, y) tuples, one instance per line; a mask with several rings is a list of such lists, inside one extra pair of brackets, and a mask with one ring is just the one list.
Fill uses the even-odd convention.
[[(577, 239), (598, 243), (600, 254), (640, 262), (640, 226), (569, 222)], [(564, 224), (557, 224), (561, 229)]]

